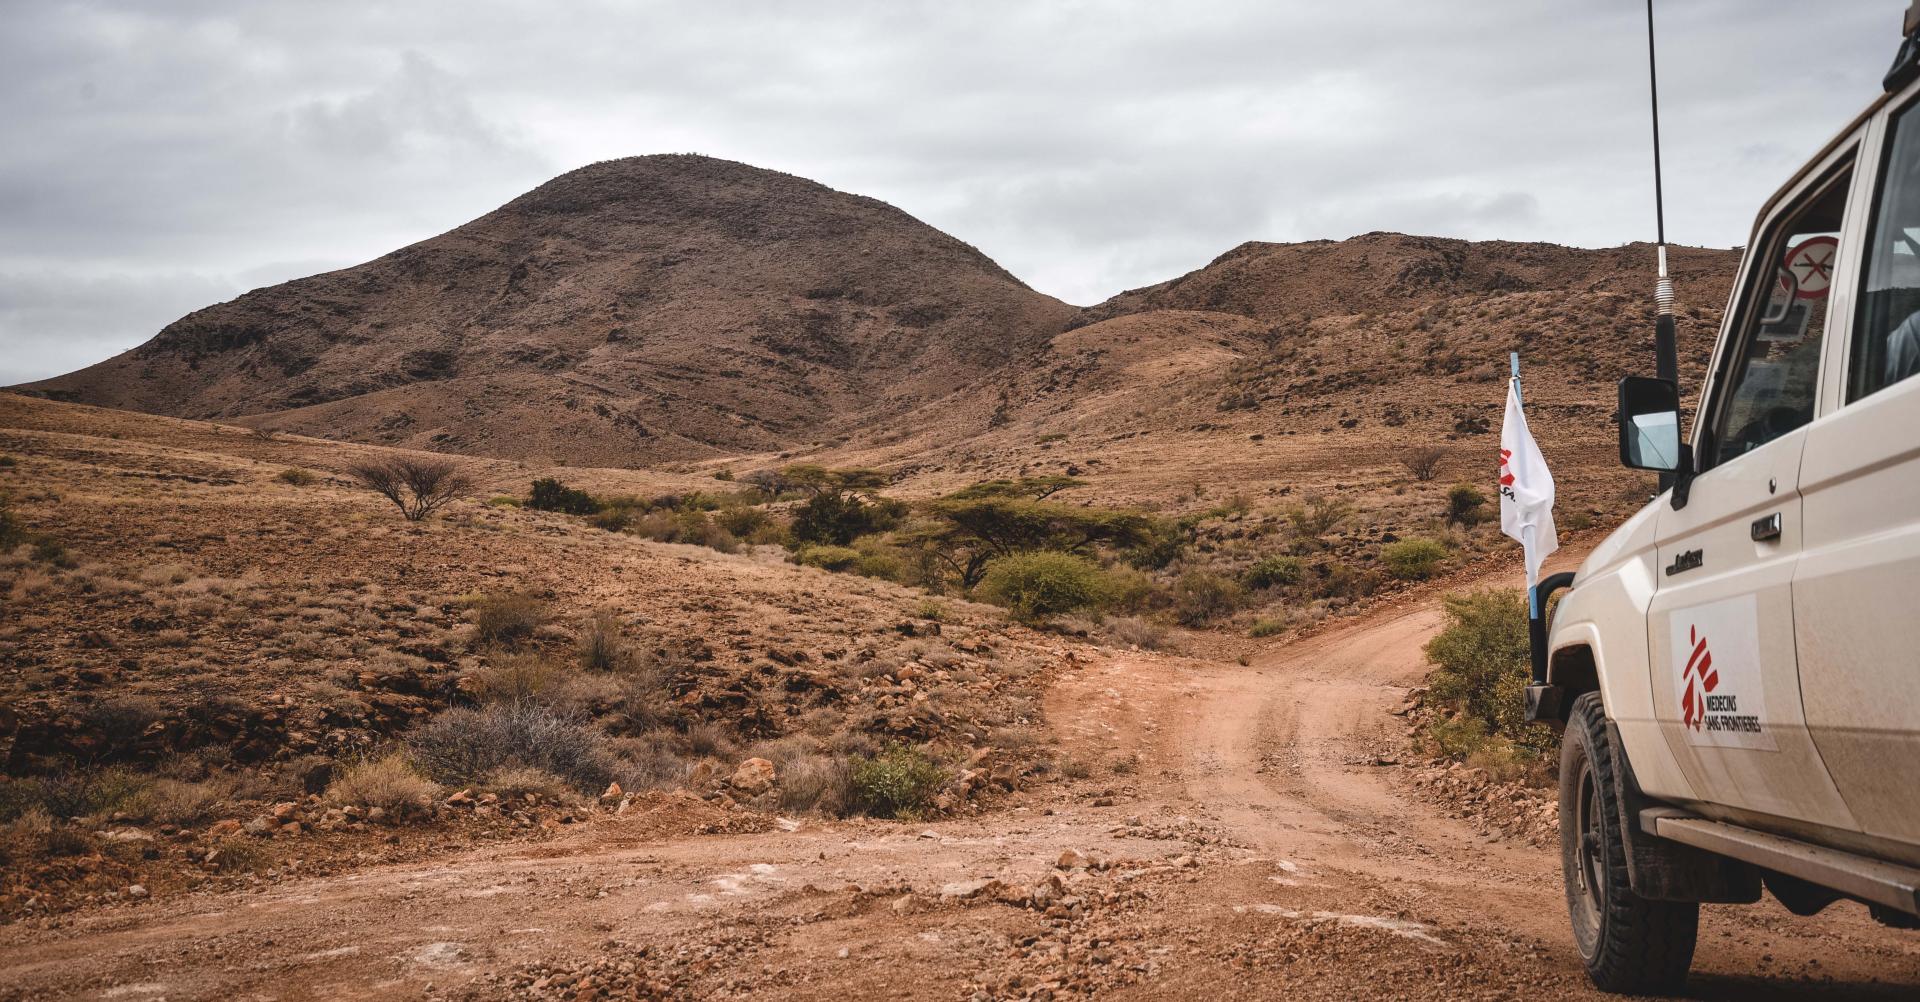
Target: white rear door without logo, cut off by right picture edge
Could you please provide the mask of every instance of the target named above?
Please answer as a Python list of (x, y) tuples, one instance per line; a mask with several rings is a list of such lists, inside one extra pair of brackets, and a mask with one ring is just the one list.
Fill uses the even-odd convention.
[(1837, 407), (1801, 461), (1793, 626), (1807, 726), (1859, 831), (1920, 845), (1920, 104), (1878, 131)]

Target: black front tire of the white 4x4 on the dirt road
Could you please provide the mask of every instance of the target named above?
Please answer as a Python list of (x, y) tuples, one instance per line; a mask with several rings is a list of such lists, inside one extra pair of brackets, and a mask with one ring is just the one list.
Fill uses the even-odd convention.
[(1561, 877), (1572, 941), (1607, 992), (1667, 994), (1686, 985), (1699, 904), (1642, 898), (1626, 883), (1626, 845), (1599, 693), (1572, 704), (1561, 739)]

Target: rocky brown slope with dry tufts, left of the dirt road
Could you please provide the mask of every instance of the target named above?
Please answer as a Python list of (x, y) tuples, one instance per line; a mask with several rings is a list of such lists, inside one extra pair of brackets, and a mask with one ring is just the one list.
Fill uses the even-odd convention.
[[(793, 566), (780, 547), (662, 545), (488, 503), (543, 472), (513, 463), (468, 465), (474, 499), (405, 522), (344, 476), (367, 453), (0, 395), (0, 493), (42, 539), (0, 553), (0, 762), (21, 777), (0, 793), (56, 814), (0, 825), (0, 918), (578, 823), (607, 777), (499, 804), (449, 802), (449, 787), (424, 818), (328, 795), (344, 768), (528, 664), (564, 674), (547, 701), (609, 735), (609, 777), (636, 795), (826, 810), (793, 781), (733, 777), (762, 762), (831, 779), (900, 743), (939, 752), (937, 806), (964, 814), (1056, 766), (1039, 699), (1091, 645)], [(618, 476), (576, 480), (687, 488)], [(474, 601), (492, 595), (536, 610), (511, 651), (476, 635)], [(624, 668), (570, 670), (609, 610)], [(67, 816), (88, 822), (52, 823)]]

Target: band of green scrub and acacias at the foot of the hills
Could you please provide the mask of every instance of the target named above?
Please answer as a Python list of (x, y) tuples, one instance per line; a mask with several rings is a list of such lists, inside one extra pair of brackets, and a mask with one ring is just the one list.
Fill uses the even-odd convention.
[[(1442, 455), (1409, 457), (1415, 480), (1430, 480)], [(1283, 633), (1498, 545), (1482, 530), (1486, 497), (1465, 484), (1423, 536), (1386, 534), (1375, 545), (1356, 539), (1365, 536), (1356, 509), (1331, 497), (1269, 511), (1229, 497), (1167, 516), (1075, 503), (1083, 480), (1071, 476), (987, 480), (924, 501), (889, 497), (877, 470), (799, 465), (726, 484), (639, 499), (541, 480), (524, 505), (722, 553), (776, 545), (803, 566), (987, 601), (1033, 626), (1091, 622), (1112, 641), (1156, 647), (1165, 633), (1142, 632), (1146, 622)]]

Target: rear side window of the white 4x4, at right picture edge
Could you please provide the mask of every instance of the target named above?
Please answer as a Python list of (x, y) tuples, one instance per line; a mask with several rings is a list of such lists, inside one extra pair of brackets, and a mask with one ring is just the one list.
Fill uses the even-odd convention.
[(1847, 399), (1920, 372), (1920, 106), (1893, 119), (1880, 198), (1866, 236), (1866, 280), (1853, 334)]

